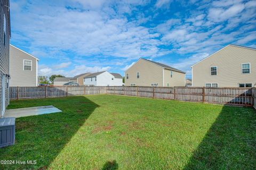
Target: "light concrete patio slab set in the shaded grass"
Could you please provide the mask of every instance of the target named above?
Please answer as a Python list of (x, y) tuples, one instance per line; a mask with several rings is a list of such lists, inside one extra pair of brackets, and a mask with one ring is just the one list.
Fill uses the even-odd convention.
[(60, 109), (54, 106), (39, 106), (39, 107), (26, 107), (26, 108), (16, 108), (7, 109), (5, 111), (4, 117), (25, 117), (42, 115), (49, 113), (62, 112)]

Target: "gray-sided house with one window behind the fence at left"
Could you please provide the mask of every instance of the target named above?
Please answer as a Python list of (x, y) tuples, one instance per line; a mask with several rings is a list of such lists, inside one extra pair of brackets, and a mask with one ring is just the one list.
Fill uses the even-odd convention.
[(10, 86), (37, 86), (38, 61), (35, 56), (10, 45)]

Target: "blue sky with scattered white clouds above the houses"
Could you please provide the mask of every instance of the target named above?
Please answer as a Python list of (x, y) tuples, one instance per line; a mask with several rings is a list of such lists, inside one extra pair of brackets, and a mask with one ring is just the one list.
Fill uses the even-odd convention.
[(256, 47), (256, 1), (14, 1), (11, 44), (38, 74), (124, 75), (143, 57), (187, 72), (228, 44)]

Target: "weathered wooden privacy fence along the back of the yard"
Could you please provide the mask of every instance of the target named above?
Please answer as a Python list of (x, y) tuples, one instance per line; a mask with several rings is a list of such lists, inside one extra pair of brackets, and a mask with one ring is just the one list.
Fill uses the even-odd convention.
[[(253, 106), (253, 88), (206, 87), (10, 87), (10, 99), (65, 97), (73, 95), (114, 94), (216, 104)], [(254, 93), (254, 96), (253, 96)]]

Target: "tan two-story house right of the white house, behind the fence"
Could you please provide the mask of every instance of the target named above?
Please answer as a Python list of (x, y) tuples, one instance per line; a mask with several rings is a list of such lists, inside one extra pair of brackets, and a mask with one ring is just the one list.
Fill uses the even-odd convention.
[(171, 66), (140, 58), (125, 71), (125, 86), (186, 86), (186, 73)]

